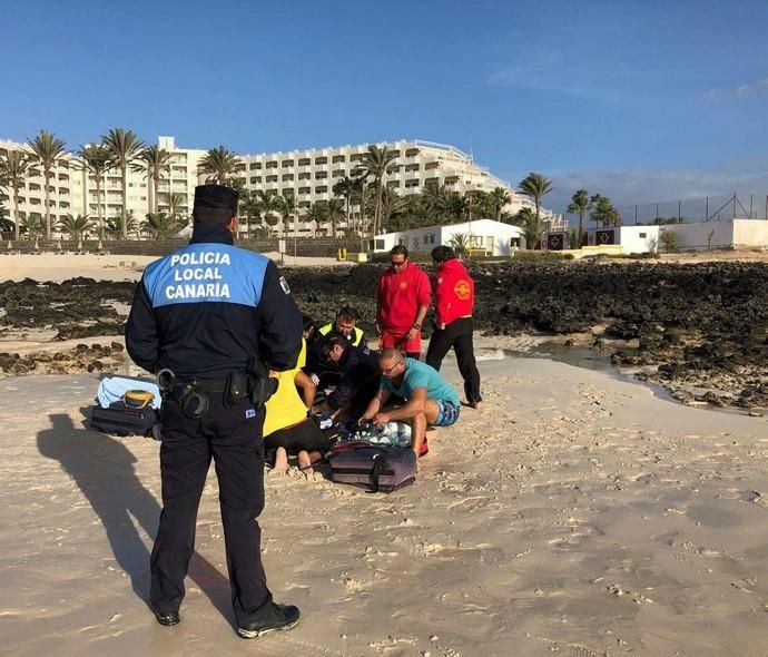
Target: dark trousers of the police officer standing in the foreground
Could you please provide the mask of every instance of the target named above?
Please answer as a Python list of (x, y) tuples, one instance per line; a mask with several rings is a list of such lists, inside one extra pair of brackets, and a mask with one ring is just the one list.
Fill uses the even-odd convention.
[(150, 559), (150, 599), (159, 611), (178, 611), (181, 605), (197, 509), (213, 458), (232, 602), (242, 627), (265, 618), (272, 602), (256, 521), (264, 508), (264, 411), (254, 412), (247, 400), (227, 409), (221, 393), (208, 396), (210, 410), (199, 420), (187, 418), (173, 400), (163, 404), (163, 512)]

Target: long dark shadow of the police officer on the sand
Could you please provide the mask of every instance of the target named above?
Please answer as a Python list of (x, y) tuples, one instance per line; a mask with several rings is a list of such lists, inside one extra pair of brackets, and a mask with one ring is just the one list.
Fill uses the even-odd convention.
[[(136, 457), (118, 440), (75, 426), (69, 415), (49, 416), (51, 428), (38, 433), (40, 453), (59, 461), (61, 469), (78, 484), (101, 519), (115, 558), (130, 577), (134, 591), (148, 601), (149, 549), (134, 519), (154, 537), (160, 506), (136, 477)], [(197, 552), (189, 565), (189, 578), (219, 612), (234, 622), (227, 578)]]

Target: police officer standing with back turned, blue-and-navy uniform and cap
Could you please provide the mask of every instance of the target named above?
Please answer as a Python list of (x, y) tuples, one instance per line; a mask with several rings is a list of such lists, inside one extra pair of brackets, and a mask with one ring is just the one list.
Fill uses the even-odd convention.
[(245, 391), (244, 373), (294, 367), (302, 315), (275, 265), (233, 246), (237, 199), (229, 187), (195, 189), (191, 241), (146, 268), (126, 346), (138, 365), (163, 371), (170, 391), (163, 404), (152, 611), (160, 625), (179, 622), (197, 508), (213, 458), (237, 634), (255, 638), (295, 626), (299, 611), (273, 602), (262, 566), (256, 519), (264, 508), (264, 409), (252, 394), (258, 379), (252, 377)]

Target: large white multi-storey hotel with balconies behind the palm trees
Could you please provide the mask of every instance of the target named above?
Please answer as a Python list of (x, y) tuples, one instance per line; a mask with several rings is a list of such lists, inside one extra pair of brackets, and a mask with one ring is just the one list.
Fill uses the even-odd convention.
[[(205, 182), (198, 173), (199, 163), (206, 150), (178, 148), (174, 137), (159, 137), (158, 145), (171, 154), (170, 166), (164, 173), (158, 186), (158, 210), (168, 210), (169, 194), (180, 194), (185, 213), (191, 208), (195, 186)], [(380, 144), (378, 146), (383, 146)], [(384, 177), (387, 187), (401, 196), (421, 192), (427, 184), (445, 185), (446, 188), (466, 193), (471, 190), (490, 192), (503, 187), (509, 192), (511, 203), (506, 212), (515, 213), (523, 206), (532, 206), (531, 200), (516, 194), (505, 182), (493, 176), (473, 158), (442, 144), (422, 140), (401, 140), (385, 144), (397, 158), (388, 167)], [(302, 220), (302, 215), (313, 203), (333, 198), (333, 186), (345, 176), (353, 177), (368, 148), (342, 146), (338, 148), (316, 148), (293, 150), (289, 153), (270, 153), (262, 155), (242, 155), (242, 164), (235, 174), (250, 192), (267, 190), (276, 194), (291, 189), (299, 208), (299, 235), (314, 234), (317, 227)], [(0, 156), (8, 150), (28, 150), (26, 144), (0, 139)], [(126, 189), (126, 208), (137, 219), (142, 219), (148, 212), (149, 193), (146, 173), (128, 171)], [(45, 182), (40, 166), (33, 166), (19, 192), (19, 213), (21, 217), (45, 217)], [(98, 204), (101, 204), (101, 216), (115, 217), (120, 214), (121, 183), (119, 170), (110, 170), (101, 182), (101, 198), (97, 197), (96, 179), (82, 170), (80, 160), (71, 153), (66, 154), (53, 168), (49, 183), (50, 212), (52, 218), (62, 218), (68, 214), (98, 216)], [(0, 202), (8, 210), (13, 209), (12, 192), (0, 188)], [(358, 216), (358, 208), (353, 208), (353, 218)], [(551, 213), (545, 213), (551, 216)], [(291, 223), (292, 231), (294, 222)], [(344, 228), (344, 222), (338, 226)], [(277, 232), (279, 227), (275, 227)]]

